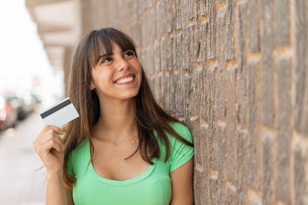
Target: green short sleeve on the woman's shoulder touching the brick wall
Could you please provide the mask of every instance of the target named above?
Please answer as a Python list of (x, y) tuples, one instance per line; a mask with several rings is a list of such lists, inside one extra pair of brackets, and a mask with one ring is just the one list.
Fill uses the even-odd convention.
[[(174, 123), (172, 124), (172, 127), (178, 134), (180, 134), (183, 138), (192, 143), (191, 133), (186, 126), (180, 123)], [(170, 172), (172, 172), (184, 165), (189, 159), (191, 159), (194, 154), (194, 150), (193, 147), (184, 144), (183, 142), (175, 139), (174, 137), (171, 137), (170, 135), (169, 140), (171, 146), (171, 155), (168, 161), (170, 164)]]

